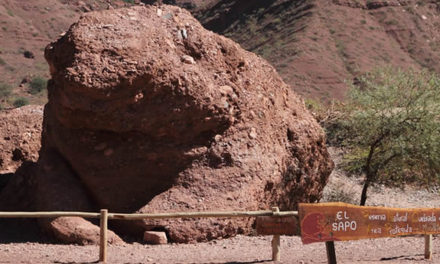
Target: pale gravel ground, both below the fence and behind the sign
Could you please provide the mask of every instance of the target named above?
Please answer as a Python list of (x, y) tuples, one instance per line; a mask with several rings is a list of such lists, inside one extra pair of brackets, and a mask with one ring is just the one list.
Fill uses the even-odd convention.
[[(338, 153), (332, 156), (338, 161)], [(324, 201), (342, 199), (357, 203), (360, 181), (347, 178), (336, 169), (324, 191)], [(376, 186), (371, 188), (368, 205), (389, 207), (438, 207), (438, 192), (407, 187), (404, 190)], [(0, 224), (1, 225), (1, 224)], [(29, 230), (24, 224), (23, 230)], [(5, 230), (6, 229), (6, 230)], [(10, 229), (10, 228), (9, 228)], [(14, 233), (0, 226), (0, 263), (96, 263), (97, 246), (12, 243), (2, 239)], [(17, 241), (38, 241), (22, 232)], [(30, 239), (30, 240), (29, 240)], [(32, 240), (33, 239), (33, 240)], [(3, 242), (2, 242), (3, 241)], [(270, 236), (237, 236), (200, 244), (109, 246), (109, 263), (272, 263)], [(338, 263), (440, 263), (440, 239), (434, 237), (433, 260), (424, 260), (424, 238), (400, 237), (336, 242)], [(281, 237), (280, 263), (327, 263), (325, 244), (303, 245), (299, 237)]]

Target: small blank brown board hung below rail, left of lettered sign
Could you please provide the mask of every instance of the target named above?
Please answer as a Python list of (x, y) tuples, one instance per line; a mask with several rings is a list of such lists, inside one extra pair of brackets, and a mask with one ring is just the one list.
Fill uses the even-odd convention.
[(257, 217), (257, 233), (260, 235), (297, 235), (299, 234), (296, 216), (259, 216)]

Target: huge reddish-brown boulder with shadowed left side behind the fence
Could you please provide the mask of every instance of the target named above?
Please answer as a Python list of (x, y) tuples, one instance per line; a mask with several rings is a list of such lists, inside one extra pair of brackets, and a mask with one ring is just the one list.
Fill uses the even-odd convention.
[[(187, 11), (88, 13), (46, 59), (38, 209), (287, 210), (321, 197), (333, 163), (303, 101)], [(253, 221), (137, 224), (190, 242), (248, 233)]]

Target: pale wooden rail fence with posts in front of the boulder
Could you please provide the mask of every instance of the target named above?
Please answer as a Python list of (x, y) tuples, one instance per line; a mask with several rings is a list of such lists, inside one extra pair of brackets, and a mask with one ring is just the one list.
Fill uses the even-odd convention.
[[(99, 261), (107, 261), (107, 222), (109, 219), (142, 220), (142, 219), (170, 219), (170, 218), (231, 218), (231, 217), (258, 217), (258, 216), (298, 216), (298, 211), (280, 212), (278, 207), (263, 211), (217, 211), (217, 212), (176, 212), (176, 213), (149, 213), (149, 214), (121, 214), (109, 213), (101, 209), (100, 213), (93, 212), (0, 212), (0, 218), (56, 218), (79, 216), (84, 218), (100, 219), (100, 244)], [(280, 236), (274, 235), (272, 239), (272, 260), (280, 260)]]

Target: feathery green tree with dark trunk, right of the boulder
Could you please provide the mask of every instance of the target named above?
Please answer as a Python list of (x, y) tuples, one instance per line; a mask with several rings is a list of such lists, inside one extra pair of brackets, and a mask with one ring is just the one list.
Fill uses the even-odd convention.
[(377, 182), (431, 183), (440, 176), (440, 79), (427, 71), (383, 68), (353, 85), (331, 137), (346, 165), (365, 175), (360, 204)]

